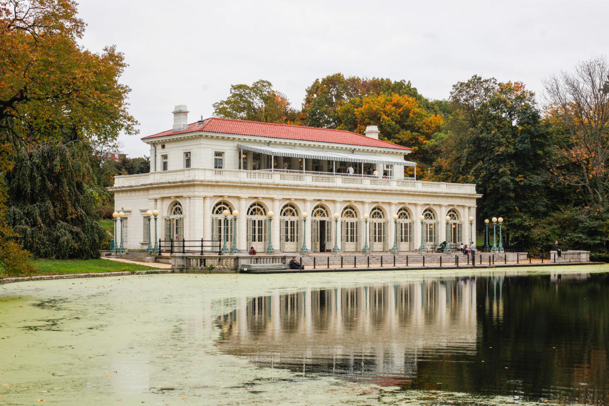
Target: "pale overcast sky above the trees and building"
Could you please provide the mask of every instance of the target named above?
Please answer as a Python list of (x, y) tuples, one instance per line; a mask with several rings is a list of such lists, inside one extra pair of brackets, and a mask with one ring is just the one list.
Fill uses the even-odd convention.
[(116, 44), (129, 64), (131, 157), (149, 154), (139, 138), (171, 128), (175, 105), (189, 122), (211, 117), (231, 84), (269, 80), (295, 108), (336, 72), (410, 80), (429, 99), (473, 74), (540, 94), (545, 77), (609, 54), (607, 0), (82, 0), (79, 10), (82, 45)]

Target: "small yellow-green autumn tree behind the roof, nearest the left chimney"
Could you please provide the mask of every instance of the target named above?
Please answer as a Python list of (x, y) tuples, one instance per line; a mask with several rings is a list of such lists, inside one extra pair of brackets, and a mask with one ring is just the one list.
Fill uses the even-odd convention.
[(226, 100), (214, 103), (214, 115), (228, 119), (297, 124), (298, 112), (268, 80), (231, 85)]

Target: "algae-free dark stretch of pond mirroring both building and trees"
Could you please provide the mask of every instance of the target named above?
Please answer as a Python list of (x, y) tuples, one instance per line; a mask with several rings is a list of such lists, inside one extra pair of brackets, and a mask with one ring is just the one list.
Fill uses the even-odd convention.
[(216, 323), (222, 351), (261, 366), (601, 405), (608, 286), (549, 275), (337, 287), (238, 299)]

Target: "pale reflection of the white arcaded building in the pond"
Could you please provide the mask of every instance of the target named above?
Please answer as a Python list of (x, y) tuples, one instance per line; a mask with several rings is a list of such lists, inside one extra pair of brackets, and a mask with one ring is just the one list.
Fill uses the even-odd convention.
[(238, 299), (220, 348), (304, 373), (408, 379), (438, 351), (476, 349), (474, 278)]

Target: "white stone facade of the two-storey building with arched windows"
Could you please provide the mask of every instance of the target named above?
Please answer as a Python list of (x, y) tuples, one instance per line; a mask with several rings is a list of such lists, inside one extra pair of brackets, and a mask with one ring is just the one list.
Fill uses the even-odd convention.
[[(186, 107), (176, 110), (183, 114)], [(364, 247), (366, 234), (371, 251), (389, 251), (394, 241), (400, 251), (417, 251), (421, 226), (423, 246), (429, 250), (446, 240), (447, 215), (451, 217), (451, 242), (469, 243), (473, 239), (470, 228), (476, 229), (476, 199), (481, 196), (473, 184), (405, 178), (403, 167), (397, 165), (265, 156), (238, 145), (393, 160), (403, 160), (408, 150), (210, 131), (161, 134), (144, 139), (150, 144), (150, 173), (116, 177), (111, 188), (116, 209), (127, 219), (127, 250), (146, 250), (148, 210), (159, 212), (158, 239), (191, 241), (222, 239), (222, 211), (238, 211), (236, 219), (228, 216), (227, 234), (230, 248), (235, 231), (241, 253), (250, 247), (264, 252), (269, 237), (275, 252), (298, 252), (303, 242), (313, 252), (330, 252), (336, 247), (341, 252), (356, 252)], [(354, 175), (345, 169), (348, 165), (353, 165)], [(345, 172), (334, 172), (340, 169)], [(378, 175), (366, 175), (375, 169)], [(274, 214), (272, 221), (270, 212)], [(303, 213), (308, 214), (306, 220)], [(366, 214), (370, 217), (367, 232)], [(398, 215), (396, 223), (394, 215)], [(421, 215), (426, 217), (423, 222)], [(470, 217), (474, 218), (471, 224)], [(152, 222), (152, 240), (154, 234)]]

